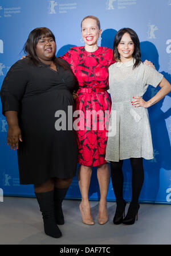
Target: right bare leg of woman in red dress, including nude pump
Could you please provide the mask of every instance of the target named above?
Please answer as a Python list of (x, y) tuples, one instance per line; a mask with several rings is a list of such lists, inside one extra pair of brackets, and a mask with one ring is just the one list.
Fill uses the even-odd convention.
[(108, 164), (100, 165), (97, 167), (97, 179), (100, 187), (100, 202), (99, 202), (99, 224), (105, 224), (108, 221), (107, 213), (107, 193), (110, 181), (110, 174)]

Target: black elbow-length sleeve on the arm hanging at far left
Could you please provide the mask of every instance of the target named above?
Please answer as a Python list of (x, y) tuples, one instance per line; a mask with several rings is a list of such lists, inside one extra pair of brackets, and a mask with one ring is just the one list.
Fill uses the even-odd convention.
[(16, 62), (8, 71), (1, 87), (2, 114), (5, 111), (19, 112), (19, 104), (27, 85), (27, 73), (23, 61)]

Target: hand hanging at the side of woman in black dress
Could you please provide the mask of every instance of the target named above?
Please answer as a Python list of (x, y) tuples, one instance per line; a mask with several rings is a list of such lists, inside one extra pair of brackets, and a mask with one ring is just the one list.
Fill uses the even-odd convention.
[(9, 126), (7, 133), (7, 145), (13, 150), (18, 149), (18, 141), (22, 142), (22, 134), (19, 126)]

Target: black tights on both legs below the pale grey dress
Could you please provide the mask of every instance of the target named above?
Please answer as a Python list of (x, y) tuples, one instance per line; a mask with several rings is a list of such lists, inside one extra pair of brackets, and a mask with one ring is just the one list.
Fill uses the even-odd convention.
[[(132, 166), (132, 203), (139, 202), (141, 188), (144, 182), (143, 158), (130, 158)], [(116, 202), (123, 202), (124, 176), (122, 171), (123, 160), (111, 162), (111, 179)]]

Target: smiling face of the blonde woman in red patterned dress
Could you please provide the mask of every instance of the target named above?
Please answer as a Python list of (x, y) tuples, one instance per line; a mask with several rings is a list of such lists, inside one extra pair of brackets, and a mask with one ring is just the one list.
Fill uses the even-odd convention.
[(97, 26), (95, 19), (87, 18), (82, 22), (82, 37), (85, 46), (97, 45), (97, 40), (101, 35), (101, 29)]

